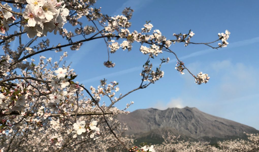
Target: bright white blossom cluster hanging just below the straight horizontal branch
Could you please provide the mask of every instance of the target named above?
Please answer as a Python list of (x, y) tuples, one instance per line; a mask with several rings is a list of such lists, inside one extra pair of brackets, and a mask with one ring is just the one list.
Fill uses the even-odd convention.
[(73, 134), (73, 138), (83, 139), (90, 137), (93, 140), (98, 139), (100, 134), (100, 128), (96, 127), (97, 121), (91, 120), (89, 124), (86, 124), (85, 121), (76, 121), (73, 124), (73, 130), (69, 130), (68, 133)]

